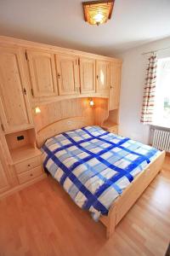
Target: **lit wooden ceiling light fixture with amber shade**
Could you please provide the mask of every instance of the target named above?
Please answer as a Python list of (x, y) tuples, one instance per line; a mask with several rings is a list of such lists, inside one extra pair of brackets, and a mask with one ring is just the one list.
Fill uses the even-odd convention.
[(83, 2), (84, 20), (90, 25), (100, 25), (111, 19), (115, 0)]

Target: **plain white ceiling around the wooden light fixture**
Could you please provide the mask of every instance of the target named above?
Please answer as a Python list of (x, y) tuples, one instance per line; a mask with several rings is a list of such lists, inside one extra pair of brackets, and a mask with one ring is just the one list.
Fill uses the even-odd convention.
[(0, 33), (114, 55), (170, 36), (170, 0), (116, 0), (102, 26), (83, 20), (81, 0), (0, 0)]

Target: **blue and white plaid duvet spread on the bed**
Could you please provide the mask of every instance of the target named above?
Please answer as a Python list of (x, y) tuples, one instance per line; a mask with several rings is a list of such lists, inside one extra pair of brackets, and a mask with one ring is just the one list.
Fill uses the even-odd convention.
[(43, 166), (94, 219), (106, 215), (122, 190), (160, 153), (98, 126), (61, 133), (42, 150)]

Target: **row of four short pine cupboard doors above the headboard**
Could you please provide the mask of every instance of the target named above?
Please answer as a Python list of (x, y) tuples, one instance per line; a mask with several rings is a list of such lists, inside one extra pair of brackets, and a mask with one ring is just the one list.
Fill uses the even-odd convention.
[(26, 58), (35, 101), (47, 102), (54, 96), (94, 96), (95, 93), (109, 96), (111, 61), (38, 49), (26, 49)]

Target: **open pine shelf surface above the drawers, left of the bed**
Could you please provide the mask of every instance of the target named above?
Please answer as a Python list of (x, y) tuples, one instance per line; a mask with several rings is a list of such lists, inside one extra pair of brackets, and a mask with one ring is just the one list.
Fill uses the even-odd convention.
[(10, 151), (10, 154), (13, 160), (13, 164), (17, 164), (23, 160), (41, 155), (42, 152), (38, 148), (33, 148), (31, 145), (26, 145), (20, 148), (14, 148)]

